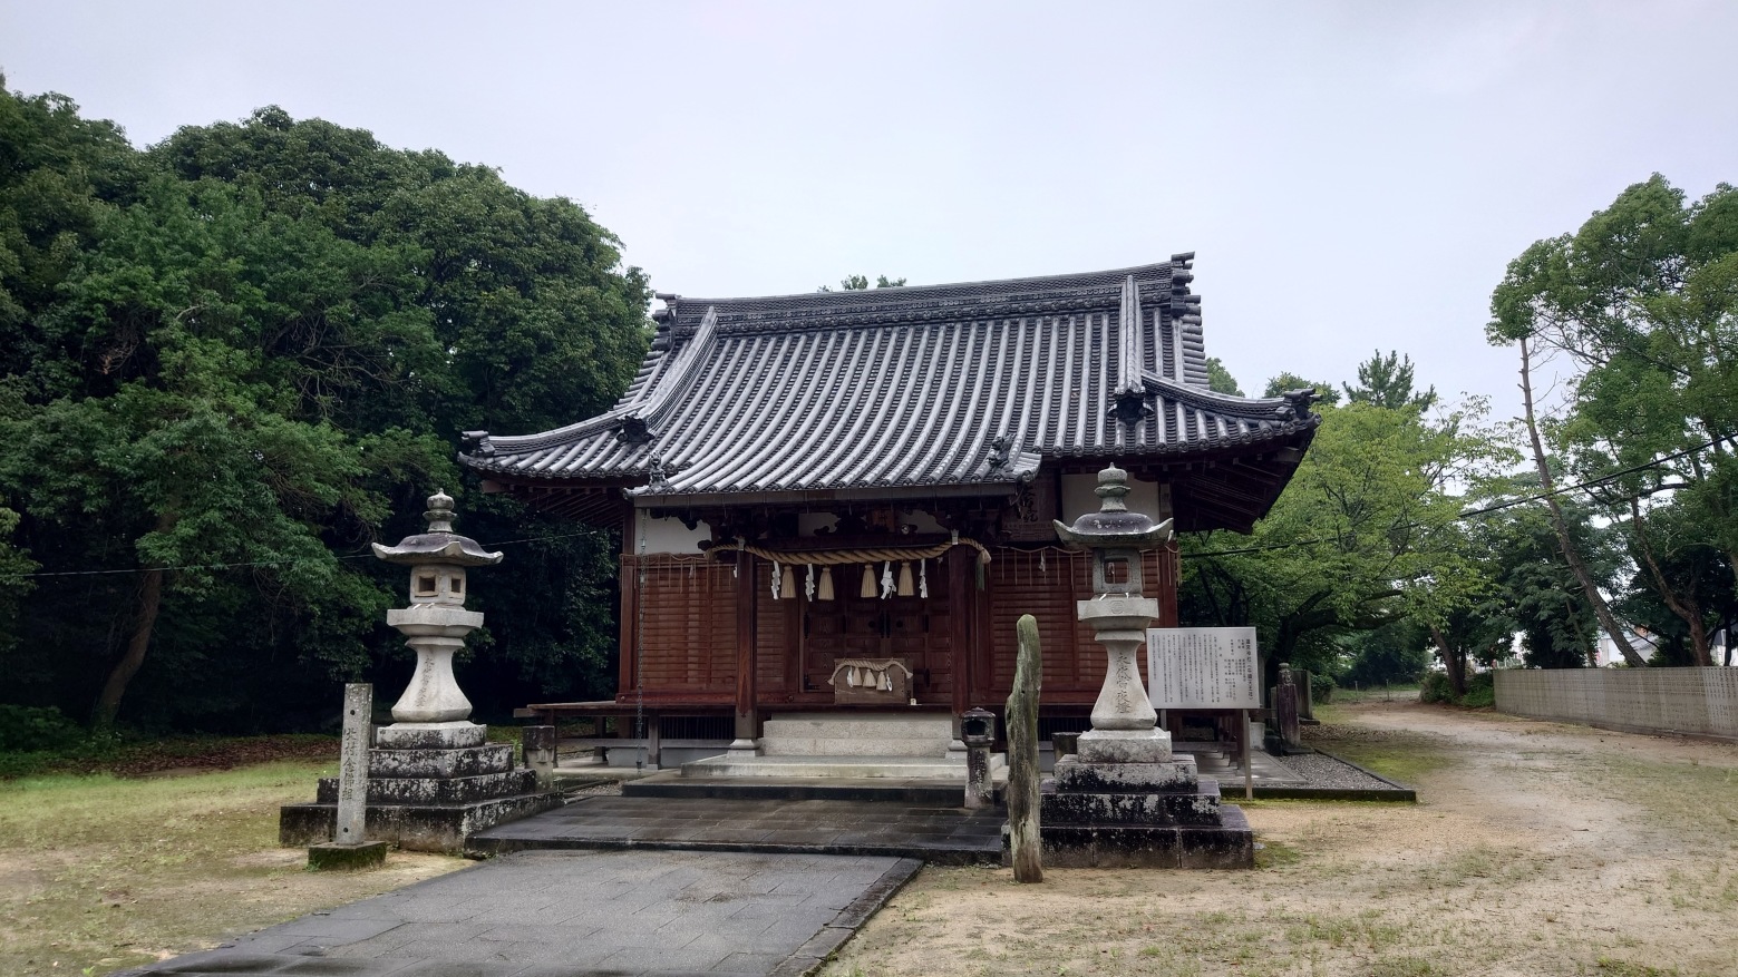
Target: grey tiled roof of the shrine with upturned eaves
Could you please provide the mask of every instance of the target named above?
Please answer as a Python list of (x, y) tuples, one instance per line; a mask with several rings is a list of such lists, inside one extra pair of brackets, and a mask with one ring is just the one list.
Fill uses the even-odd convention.
[(1055, 278), (770, 298), (666, 297), (608, 413), (468, 436), (501, 481), (700, 496), (1006, 486), (1043, 458), (1307, 443), (1307, 397), (1206, 389), (1192, 255)]

